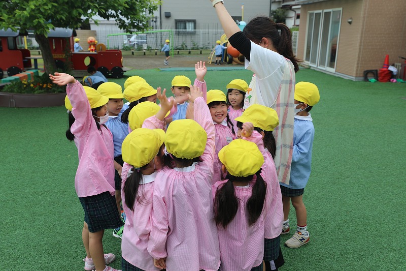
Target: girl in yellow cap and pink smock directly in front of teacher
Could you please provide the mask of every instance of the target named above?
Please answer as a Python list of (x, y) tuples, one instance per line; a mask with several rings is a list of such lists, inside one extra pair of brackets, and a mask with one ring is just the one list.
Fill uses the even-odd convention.
[(261, 175), (266, 182), (266, 189), (270, 196), (266, 198), (266, 207), (269, 210), (269, 215), (265, 218), (263, 260), (265, 261), (265, 269), (277, 270), (285, 262), (280, 246), (283, 222), (282, 195), (273, 159), (276, 152), (273, 131), (279, 125), (278, 114), (272, 108), (253, 104), (240, 117), (236, 118), (235, 121), (237, 121), (237, 136), (239, 138), (243, 136), (244, 125), (251, 124), (253, 126), (254, 132), (252, 135), (250, 133), (245, 135), (247, 137), (246, 140), (256, 143), (264, 157)]

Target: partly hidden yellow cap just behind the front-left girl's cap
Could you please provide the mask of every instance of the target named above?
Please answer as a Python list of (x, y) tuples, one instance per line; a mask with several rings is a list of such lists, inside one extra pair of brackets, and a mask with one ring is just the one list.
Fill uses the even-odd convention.
[[(128, 114), (128, 124), (131, 130), (136, 130), (143, 127), (144, 121), (155, 115), (161, 107), (153, 102), (142, 102), (134, 106)], [(166, 113), (166, 116), (170, 112)]]

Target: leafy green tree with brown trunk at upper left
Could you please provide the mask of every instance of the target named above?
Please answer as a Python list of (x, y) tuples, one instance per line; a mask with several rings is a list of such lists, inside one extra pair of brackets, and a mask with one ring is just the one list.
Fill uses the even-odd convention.
[(50, 29), (76, 29), (98, 15), (115, 20), (127, 32), (144, 31), (149, 28), (148, 21), (159, 4), (158, 0), (2, 0), (0, 29), (33, 29), (43, 54), (45, 70), (53, 73), (56, 67), (47, 39)]

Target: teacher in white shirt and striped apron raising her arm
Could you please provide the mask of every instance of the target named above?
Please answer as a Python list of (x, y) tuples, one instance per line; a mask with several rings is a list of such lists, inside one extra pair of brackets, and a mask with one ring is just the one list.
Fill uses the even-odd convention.
[(294, 87), (298, 59), (293, 54), (290, 29), (265, 16), (252, 19), (241, 32), (229, 15), (222, 0), (210, 0), (230, 44), (245, 56), (245, 68), (254, 75), (252, 91), (245, 96), (244, 108), (261, 104), (275, 109), (279, 126), (273, 134), (276, 140), (275, 165), (279, 182), (289, 184), (293, 150)]

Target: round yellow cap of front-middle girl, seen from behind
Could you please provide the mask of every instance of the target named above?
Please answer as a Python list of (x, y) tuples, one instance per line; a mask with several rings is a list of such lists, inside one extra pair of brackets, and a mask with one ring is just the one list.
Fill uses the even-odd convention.
[(192, 119), (178, 119), (168, 126), (165, 147), (177, 158), (193, 159), (201, 156), (206, 148), (207, 133)]

